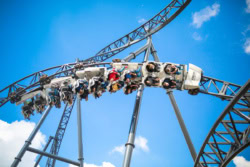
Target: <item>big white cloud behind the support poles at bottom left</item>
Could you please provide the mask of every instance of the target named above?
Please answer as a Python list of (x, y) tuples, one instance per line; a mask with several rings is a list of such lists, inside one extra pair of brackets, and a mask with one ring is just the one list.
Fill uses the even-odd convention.
[[(15, 121), (7, 123), (0, 120), (0, 162), (1, 167), (9, 167), (20, 151), (25, 140), (35, 127), (35, 123)], [(32, 141), (31, 147), (41, 149), (46, 136), (40, 131)], [(26, 152), (20, 162), (20, 167), (34, 166), (37, 154)]]

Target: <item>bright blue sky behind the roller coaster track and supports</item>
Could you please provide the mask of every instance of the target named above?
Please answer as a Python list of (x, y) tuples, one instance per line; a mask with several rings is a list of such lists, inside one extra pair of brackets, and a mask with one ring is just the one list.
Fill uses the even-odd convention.
[[(153, 17), (169, 2), (1, 1), (0, 88), (33, 72), (95, 55)], [(192, 63), (201, 67), (206, 76), (243, 85), (250, 78), (249, 16), (249, 1), (193, 0), (174, 21), (153, 35), (160, 61)], [(127, 56), (145, 42), (117, 57)], [(141, 60), (138, 58), (136, 61)], [(198, 152), (228, 102), (202, 94), (190, 96), (186, 91), (175, 91), (174, 94)], [(123, 155), (112, 150), (127, 141), (134, 101), (135, 93), (124, 95), (122, 92), (106, 93), (100, 99), (91, 97), (88, 102), (82, 101), (83, 149), (87, 164), (101, 166), (103, 162), (109, 162), (116, 167), (121, 166)], [(61, 113), (62, 109), (53, 109), (42, 126), (41, 133), (47, 139), (54, 135)], [(37, 122), (40, 117), (33, 116), (30, 122)], [(0, 120), (8, 124), (23, 120), (20, 106), (8, 103), (1, 107)], [(142, 145), (134, 151), (131, 166), (193, 165), (164, 90), (145, 89), (137, 136), (141, 136), (138, 143)], [(75, 110), (59, 155), (77, 160)], [(249, 161), (249, 148), (241, 155)], [(41, 166), (45, 160), (41, 161)], [(234, 166), (233, 163), (230, 165)], [(57, 162), (57, 166), (68, 165)]]

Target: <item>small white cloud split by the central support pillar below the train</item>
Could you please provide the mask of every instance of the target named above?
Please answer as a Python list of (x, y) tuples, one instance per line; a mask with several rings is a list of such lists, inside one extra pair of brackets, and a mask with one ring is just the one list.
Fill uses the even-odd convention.
[[(148, 140), (145, 137), (138, 136), (135, 138), (135, 149), (142, 150), (144, 152), (149, 152), (149, 147), (147, 143)], [(115, 152), (118, 152), (123, 155), (125, 153), (125, 146), (124, 145), (116, 146), (110, 153), (112, 154)]]

